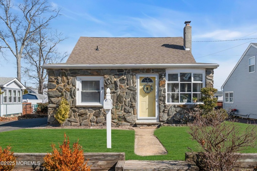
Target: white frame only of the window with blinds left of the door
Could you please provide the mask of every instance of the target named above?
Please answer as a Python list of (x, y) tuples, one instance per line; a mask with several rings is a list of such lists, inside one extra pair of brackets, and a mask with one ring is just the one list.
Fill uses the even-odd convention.
[[(103, 85), (103, 76), (77, 76), (76, 84), (76, 106), (103, 106), (104, 100), (104, 85)], [(100, 103), (82, 103), (81, 102), (81, 81), (100, 81)]]

